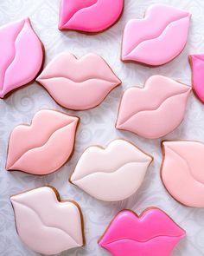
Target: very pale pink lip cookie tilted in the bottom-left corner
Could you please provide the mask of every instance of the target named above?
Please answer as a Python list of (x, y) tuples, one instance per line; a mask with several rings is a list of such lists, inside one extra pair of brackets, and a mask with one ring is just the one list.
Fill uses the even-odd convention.
[(54, 187), (39, 187), (10, 197), (16, 230), (26, 246), (47, 255), (84, 245), (83, 217)]

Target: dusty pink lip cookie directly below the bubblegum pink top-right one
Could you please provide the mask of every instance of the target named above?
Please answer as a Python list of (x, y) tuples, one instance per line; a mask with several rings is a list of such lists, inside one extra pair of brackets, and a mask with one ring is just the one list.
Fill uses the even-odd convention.
[(143, 88), (124, 92), (116, 128), (148, 139), (167, 135), (182, 122), (190, 91), (163, 75), (150, 76)]

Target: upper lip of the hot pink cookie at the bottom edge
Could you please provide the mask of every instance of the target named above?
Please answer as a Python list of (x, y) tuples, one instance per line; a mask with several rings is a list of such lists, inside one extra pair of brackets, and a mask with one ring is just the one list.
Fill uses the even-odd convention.
[[(137, 230), (139, 230), (139, 227), (141, 228), (141, 226), (143, 226), (143, 223), (145, 223), (145, 225), (148, 223), (151, 226), (152, 218), (150, 220), (150, 218), (148, 217), (148, 214), (150, 213), (151, 210), (159, 211), (160, 213), (163, 214), (163, 216), (165, 216), (162, 221), (163, 223), (160, 221), (161, 225), (156, 226), (156, 228), (154, 230), (155, 234), (150, 233), (149, 230), (146, 230), (146, 232), (143, 234), (137, 232)], [(135, 222), (133, 224), (133, 228), (135, 228), (136, 232), (134, 233), (134, 236), (127, 235), (126, 230), (125, 230), (125, 222), (124, 221), (119, 222), (119, 220), (118, 220), (119, 216), (124, 213), (132, 213), (135, 215)], [(128, 220), (128, 216), (127, 216), (127, 220)], [(114, 230), (112, 230), (112, 228), (111, 228), (115, 221), (118, 221), (120, 223), (120, 227), (121, 227), (120, 231), (122, 232), (122, 233), (120, 233), (120, 235), (115, 235)], [(171, 230), (169, 233), (163, 233), (163, 228), (161, 228), (161, 226), (163, 227), (165, 225), (171, 225), (171, 226), (174, 225), (174, 227), (175, 227), (174, 231)], [(132, 228), (132, 226), (131, 226), (131, 228)], [(105, 235), (106, 233), (108, 233), (108, 236)], [(175, 222), (173, 220), (171, 220), (166, 213), (163, 213), (163, 211), (161, 211), (157, 208), (152, 208), (152, 209), (144, 211), (140, 216), (138, 216), (136, 213), (131, 212), (130, 210), (121, 211), (120, 213), (118, 213), (116, 218), (114, 220), (112, 220), (112, 223), (106, 230), (105, 234), (99, 240), (100, 246), (112, 244), (119, 240), (135, 240), (139, 243), (140, 242), (142, 243), (142, 242), (147, 242), (149, 240), (156, 239), (158, 237), (169, 237), (169, 238), (172, 237), (172, 238), (182, 239), (185, 236), (185, 231), (180, 226), (175, 224)]]

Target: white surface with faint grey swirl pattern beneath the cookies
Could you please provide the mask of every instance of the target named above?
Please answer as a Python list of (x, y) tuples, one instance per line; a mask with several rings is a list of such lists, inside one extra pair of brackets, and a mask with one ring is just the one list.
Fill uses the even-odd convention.
[[(62, 198), (76, 200), (84, 213), (86, 246), (61, 255), (102, 256), (109, 255), (99, 248), (97, 240), (104, 232), (112, 217), (123, 208), (131, 208), (140, 213), (146, 207), (161, 207), (187, 231), (187, 238), (176, 247), (173, 256), (204, 255), (204, 209), (184, 207), (173, 200), (163, 187), (159, 177), (161, 163), (160, 142), (163, 139), (189, 139), (204, 142), (204, 106), (192, 94), (182, 125), (161, 140), (145, 140), (114, 128), (119, 98), (124, 89), (133, 85), (142, 86), (150, 75), (167, 75), (170, 78), (190, 84), (189, 53), (204, 52), (204, 1), (203, 0), (124, 0), (124, 15), (110, 30), (96, 36), (86, 36), (77, 32), (57, 30), (59, 0), (1, 0), (0, 24), (9, 23), (29, 16), (31, 23), (46, 49), (46, 63), (63, 51), (76, 56), (94, 52), (103, 56), (123, 81), (122, 86), (114, 89), (98, 108), (85, 112), (67, 111), (58, 106), (35, 82), (19, 89), (4, 101), (0, 101), (0, 255), (27, 256), (37, 255), (29, 251), (19, 240), (10, 195), (23, 190), (50, 184), (56, 187)], [(142, 17), (151, 3), (169, 3), (190, 11), (192, 16), (187, 47), (173, 62), (159, 68), (146, 68), (135, 63), (120, 62), (120, 44), (124, 24), (130, 18)], [(172, 39), (174, 40), (174, 39)], [(41, 108), (55, 108), (74, 113), (81, 118), (77, 134), (76, 148), (71, 161), (61, 170), (44, 177), (22, 173), (9, 173), (4, 169), (7, 143), (11, 130), (19, 123), (29, 122)], [(148, 124), (147, 124), (148, 125)], [(105, 203), (92, 199), (79, 188), (68, 183), (68, 178), (82, 151), (92, 145), (107, 145), (115, 138), (135, 142), (137, 146), (154, 156), (143, 186), (129, 200)], [(192, 154), (194, 154), (192, 152)], [(182, 184), (181, 184), (182, 186)]]

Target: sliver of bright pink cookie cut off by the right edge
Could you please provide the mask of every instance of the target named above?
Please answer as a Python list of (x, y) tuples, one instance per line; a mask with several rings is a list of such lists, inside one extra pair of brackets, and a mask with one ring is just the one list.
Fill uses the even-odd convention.
[(204, 103), (204, 54), (189, 56), (194, 94)]

